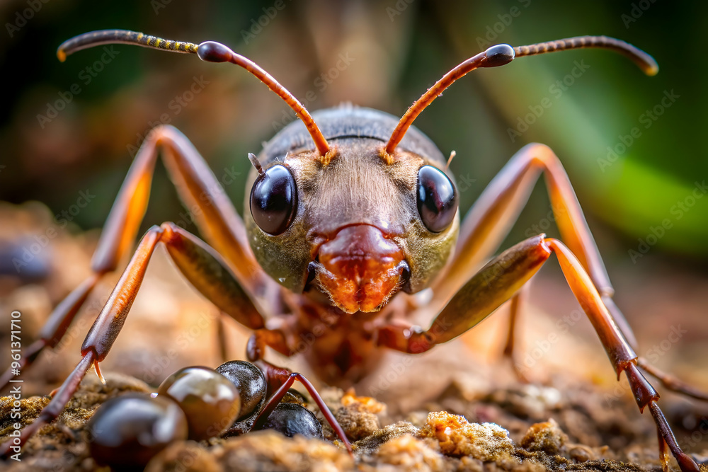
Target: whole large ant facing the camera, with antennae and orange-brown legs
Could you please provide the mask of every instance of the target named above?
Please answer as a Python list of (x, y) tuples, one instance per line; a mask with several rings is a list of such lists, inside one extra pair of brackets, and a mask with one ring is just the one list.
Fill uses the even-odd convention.
[[(457, 79), (479, 68), (501, 67), (518, 57), (584, 47), (614, 50), (644, 73), (658, 72), (654, 59), (627, 42), (581, 36), (535, 45), (495, 45), (453, 68), (406, 113), (396, 117), (343, 106), (310, 114), (265, 70), (218, 42), (164, 40), (128, 30), (100, 30), (59, 46), (64, 61), (87, 47), (123, 43), (197, 54), (206, 62), (243, 67), (275, 92), (299, 117), (249, 154), (253, 170), (244, 218), (204, 159), (177, 129), (160, 126), (139, 149), (108, 215), (93, 255), (93, 275), (52, 312), (23, 356), (23, 367), (61, 340), (98, 280), (118, 268), (131, 251), (149, 199), (157, 156), (161, 156), (181, 200), (195, 205), (198, 228), (208, 244), (171, 222), (152, 226), (130, 259), (108, 302), (81, 347), (81, 360), (16, 441), (19, 448), (62, 412), (81, 379), (105, 359), (127, 318), (154, 249), (164, 244), (185, 278), (219, 310), (253, 335), (246, 358), (268, 381), (271, 409), (297, 379), (320, 406), (351, 452), (335, 418), (301, 374), (265, 360), (265, 348), (291, 356), (301, 352), (327, 384), (350, 386), (370, 372), (384, 348), (417, 354), (473, 328), (512, 300), (512, 323), (520, 310), (520, 289), (555, 254), (573, 294), (590, 318), (617, 376), (624, 373), (640, 410), (649, 408), (658, 430), (664, 470), (673, 454), (683, 472), (697, 472), (658, 406), (659, 395), (644, 377), (666, 388), (708, 399), (635, 353), (636, 339), (612, 301), (614, 289), (561, 161), (543, 144), (520, 149), (492, 180), (460, 223), (458, 192), (437, 146), (411, 127), (416, 117)], [(537, 178), (546, 178), (562, 242), (544, 234), (527, 238), (481, 266), (503, 241)], [(430, 288), (432, 299), (414, 297)], [(423, 329), (406, 320), (417, 309), (437, 313)], [(268, 325), (265, 319), (268, 317)], [(512, 324), (513, 326), (513, 324)], [(513, 329), (508, 339), (513, 346)], [(510, 350), (511, 351), (511, 350)], [(4, 388), (11, 378), (0, 379)]]

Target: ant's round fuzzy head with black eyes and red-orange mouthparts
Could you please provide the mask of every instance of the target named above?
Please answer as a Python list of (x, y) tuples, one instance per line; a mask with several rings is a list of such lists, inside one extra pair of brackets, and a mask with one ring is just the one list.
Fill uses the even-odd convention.
[[(251, 248), (293, 291), (317, 289), (346, 313), (379, 311), (401, 289), (426, 288), (445, 265), (459, 228), (457, 190), (440, 151), (415, 129), (391, 161), (382, 157), (394, 117), (360, 108), (314, 115), (331, 158), (302, 149), (297, 123), (266, 146), (244, 212)], [(372, 120), (379, 132), (367, 132)]]

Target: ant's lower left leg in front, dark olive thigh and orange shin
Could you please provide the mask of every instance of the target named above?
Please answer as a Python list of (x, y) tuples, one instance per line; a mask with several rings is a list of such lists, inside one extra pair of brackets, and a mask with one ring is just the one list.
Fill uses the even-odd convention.
[(19, 444), (10, 440), (0, 445), (0, 456), (7, 456), (10, 451), (14, 451), (13, 448), (21, 447), (42, 425), (55, 420), (79, 388), (89, 367), (92, 364), (98, 367), (98, 363), (108, 355), (140, 289), (150, 258), (160, 242), (164, 243), (171, 259), (190, 284), (212, 304), (244, 326), (251, 329), (263, 328), (263, 317), (250, 299), (249, 292), (241, 287), (234, 273), (212, 248), (173, 223), (153, 226), (140, 240), (118, 284), (93, 322), (81, 346), (81, 361), (74, 372), (64, 381), (39, 418), (23, 429)]

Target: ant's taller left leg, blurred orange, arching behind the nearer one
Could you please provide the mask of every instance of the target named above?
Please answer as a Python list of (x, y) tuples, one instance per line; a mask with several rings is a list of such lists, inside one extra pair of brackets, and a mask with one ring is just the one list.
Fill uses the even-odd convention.
[[(178, 195), (194, 215), (198, 228), (211, 246), (227, 259), (241, 285), (253, 291), (258, 284), (266, 283), (267, 277), (263, 276), (249, 248), (244, 222), (207, 163), (178, 129), (156, 127), (140, 146), (110, 209), (91, 260), (93, 275), (52, 311), (39, 339), (25, 351), (21, 368), (28, 367), (45, 347), (59, 344), (93, 287), (103, 275), (113, 272), (129, 253), (147, 208), (159, 151)], [(11, 369), (0, 376), (0, 391), (12, 376)]]

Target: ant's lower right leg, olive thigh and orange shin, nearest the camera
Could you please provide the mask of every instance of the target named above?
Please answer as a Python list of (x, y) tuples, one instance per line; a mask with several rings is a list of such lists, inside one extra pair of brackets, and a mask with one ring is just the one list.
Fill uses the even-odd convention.
[[(586, 312), (617, 372), (624, 372), (639, 411), (649, 407), (654, 422), (683, 472), (699, 472), (695, 461), (681, 450), (657, 405), (658, 393), (637, 367), (637, 356), (605, 306), (603, 297), (578, 258), (560, 241), (534, 236), (503, 252), (477, 272), (438, 314), (428, 330), (405, 326), (379, 328), (379, 345), (403, 352), (425, 352), (445, 343), (484, 320), (525, 284), (555, 253), (571, 291)], [(660, 450), (663, 451), (663, 442)]]

